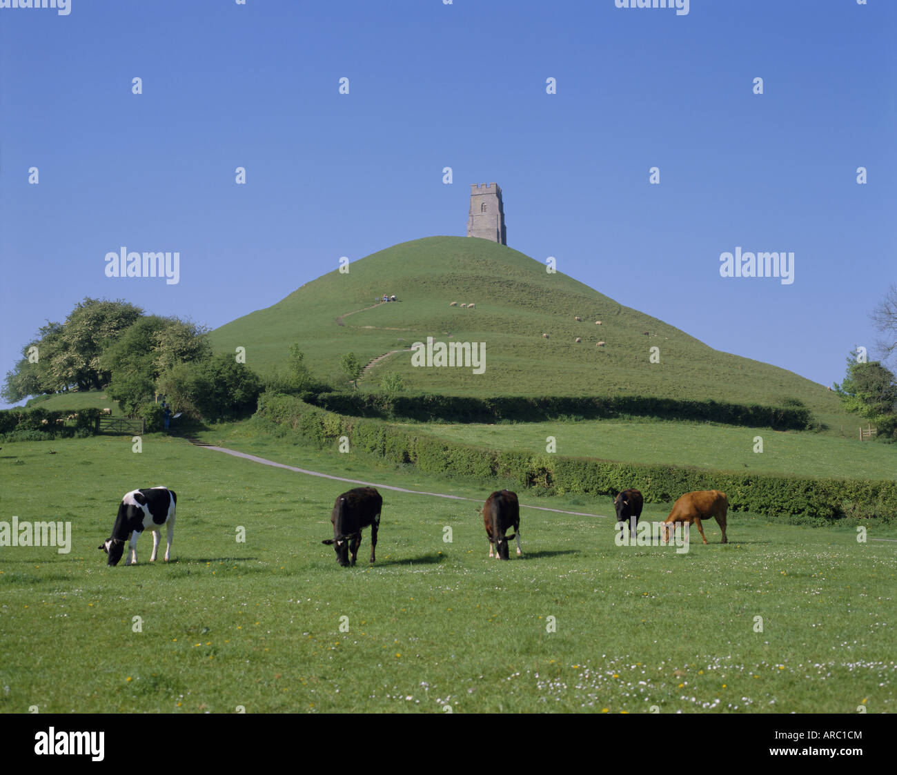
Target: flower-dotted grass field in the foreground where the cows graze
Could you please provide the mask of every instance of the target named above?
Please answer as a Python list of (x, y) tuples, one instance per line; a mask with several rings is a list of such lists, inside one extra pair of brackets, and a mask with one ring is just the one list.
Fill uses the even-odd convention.
[[(488, 494), (245, 424), (204, 437), (368, 481)], [(713, 523), (709, 545), (677, 554), (616, 546), (608, 518), (523, 509), (524, 557), (497, 562), (476, 503), (381, 491), (378, 562), (366, 562), (366, 532), (359, 565), (342, 569), (320, 541), (351, 485), (158, 435), (140, 454), (114, 437), (53, 448), (0, 451), (0, 519), (68, 520), (74, 536), (68, 554), (0, 548), (6, 712), (895, 710), (897, 544), (860, 544), (847, 524), (738, 513), (730, 544)], [(118, 500), (155, 484), (179, 495), (173, 562), (146, 562), (144, 536), (139, 565), (107, 568), (96, 547)], [(609, 501), (520, 494), (610, 513)]]

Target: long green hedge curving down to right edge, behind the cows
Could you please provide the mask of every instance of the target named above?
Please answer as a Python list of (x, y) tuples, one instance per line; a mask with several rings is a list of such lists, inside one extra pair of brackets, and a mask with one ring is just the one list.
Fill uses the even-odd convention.
[(839, 519), (897, 516), (897, 482), (811, 479), (797, 476), (712, 472), (679, 466), (642, 466), (579, 457), (535, 455), (470, 447), (382, 422), (343, 417), (296, 396), (264, 394), (259, 418), (290, 428), (319, 447), (349, 437), (353, 448), (428, 474), (510, 480), (518, 487), (613, 497), (638, 488), (649, 503), (674, 501), (684, 492), (722, 490), (729, 508), (770, 516)]

